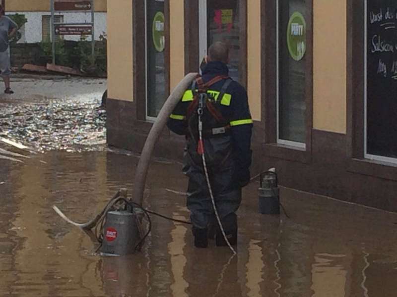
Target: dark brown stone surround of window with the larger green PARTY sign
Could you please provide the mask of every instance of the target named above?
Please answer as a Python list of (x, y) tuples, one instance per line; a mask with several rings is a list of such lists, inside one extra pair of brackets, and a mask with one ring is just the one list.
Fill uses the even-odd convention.
[(264, 154), (303, 163), (311, 162), (313, 130), (313, 0), (306, 0), (305, 143), (279, 140), (279, 0), (261, 0), (262, 9), (262, 122)]

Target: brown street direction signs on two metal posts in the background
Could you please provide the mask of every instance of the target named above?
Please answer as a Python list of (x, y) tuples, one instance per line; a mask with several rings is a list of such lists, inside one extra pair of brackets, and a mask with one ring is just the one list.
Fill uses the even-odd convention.
[[(51, 1), (51, 41), (53, 64), (55, 64), (56, 36), (91, 35), (91, 55), (95, 59), (95, 10), (94, 0), (50, 0)], [(90, 23), (55, 23), (55, 12), (91, 11)]]

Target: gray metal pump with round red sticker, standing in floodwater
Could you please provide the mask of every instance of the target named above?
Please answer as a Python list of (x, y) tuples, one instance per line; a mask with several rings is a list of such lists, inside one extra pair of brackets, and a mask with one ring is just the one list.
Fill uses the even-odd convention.
[(103, 228), (101, 252), (127, 255), (135, 251), (140, 240), (136, 215), (130, 211), (109, 211)]

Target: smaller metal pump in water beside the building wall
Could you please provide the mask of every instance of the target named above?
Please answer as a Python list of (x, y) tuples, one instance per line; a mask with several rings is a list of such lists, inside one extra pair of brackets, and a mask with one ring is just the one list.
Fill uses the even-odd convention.
[(261, 174), (259, 188), (259, 212), (262, 214), (280, 214), (280, 191), (278, 189), (277, 174), (266, 171)]

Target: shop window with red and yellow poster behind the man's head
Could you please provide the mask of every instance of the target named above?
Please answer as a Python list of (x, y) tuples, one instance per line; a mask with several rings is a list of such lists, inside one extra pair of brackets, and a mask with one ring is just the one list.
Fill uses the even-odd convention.
[(229, 75), (239, 80), (240, 24), (239, 0), (207, 1), (207, 46), (222, 41), (230, 47)]

